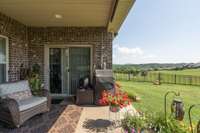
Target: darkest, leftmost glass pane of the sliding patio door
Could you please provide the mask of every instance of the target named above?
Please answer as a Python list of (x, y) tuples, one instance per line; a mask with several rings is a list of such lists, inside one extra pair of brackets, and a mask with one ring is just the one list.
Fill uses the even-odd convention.
[(62, 73), (61, 73), (61, 49), (50, 48), (50, 92), (54, 94), (62, 93)]

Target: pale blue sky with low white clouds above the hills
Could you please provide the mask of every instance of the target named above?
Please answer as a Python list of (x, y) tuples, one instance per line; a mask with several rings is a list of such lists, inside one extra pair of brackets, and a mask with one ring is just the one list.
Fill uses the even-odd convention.
[(136, 0), (113, 41), (113, 63), (182, 62), (200, 62), (200, 0)]

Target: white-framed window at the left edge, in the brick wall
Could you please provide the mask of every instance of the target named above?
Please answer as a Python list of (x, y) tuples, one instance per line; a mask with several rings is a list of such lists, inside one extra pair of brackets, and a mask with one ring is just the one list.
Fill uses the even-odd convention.
[(0, 83), (7, 81), (7, 38), (0, 36)]

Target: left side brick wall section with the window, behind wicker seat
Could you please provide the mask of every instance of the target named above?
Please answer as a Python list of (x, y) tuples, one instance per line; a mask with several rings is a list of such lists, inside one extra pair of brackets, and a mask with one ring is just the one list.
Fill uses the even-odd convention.
[(28, 67), (27, 27), (0, 13), (0, 35), (9, 38), (9, 81), (19, 80), (21, 64)]

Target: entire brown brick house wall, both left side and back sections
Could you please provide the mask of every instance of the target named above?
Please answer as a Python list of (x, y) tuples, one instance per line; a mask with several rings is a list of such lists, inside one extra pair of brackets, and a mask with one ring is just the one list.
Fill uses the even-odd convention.
[(19, 80), (20, 66), (41, 66), (44, 78), (45, 45), (92, 45), (93, 68), (112, 69), (113, 36), (106, 27), (27, 27), (0, 13), (0, 34), (9, 38), (9, 81)]

